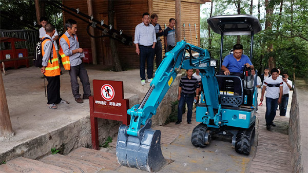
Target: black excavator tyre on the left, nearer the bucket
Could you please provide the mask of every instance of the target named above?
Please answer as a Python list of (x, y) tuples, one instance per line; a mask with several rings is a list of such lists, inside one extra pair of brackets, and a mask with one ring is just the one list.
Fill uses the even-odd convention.
[(191, 134), (191, 144), (195, 147), (205, 147), (204, 135), (207, 130), (207, 126), (203, 123), (197, 125)]

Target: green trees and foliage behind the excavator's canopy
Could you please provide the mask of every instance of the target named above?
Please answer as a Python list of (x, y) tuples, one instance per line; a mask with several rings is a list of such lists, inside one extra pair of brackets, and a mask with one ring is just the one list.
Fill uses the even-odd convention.
[[(263, 72), (268, 67), (268, 58), (273, 56), (275, 65), (282, 72), (293, 78), (308, 78), (308, 1), (306, 0), (283, 0), (282, 12), (280, 14), (279, 0), (268, 0), (269, 7), (274, 9), (273, 15), (269, 16), (272, 29), (264, 29), (265, 26), (265, 0), (260, 1), (260, 24), (262, 31), (255, 34), (253, 49), (253, 64), (259, 71)], [(258, 5), (254, 1), (253, 15), (258, 18)], [(213, 0), (213, 15), (237, 14), (235, 3), (237, 1)], [(249, 14), (251, 0), (241, 0), (241, 13)], [(209, 3), (208, 3), (209, 4)], [(203, 16), (201, 23), (201, 46), (209, 47), (209, 38), (206, 20), (209, 17), (210, 5), (206, 5), (201, 11)], [(220, 56), (220, 35), (210, 31), (212, 40), (208, 49), (215, 59)], [(223, 57), (226, 56), (233, 45), (236, 44), (236, 36), (225, 36)], [(244, 54), (249, 56), (249, 36), (241, 36), (241, 44), (244, 47)], [(267, 51), (267, 45), (273, 44), (273, 50)]]

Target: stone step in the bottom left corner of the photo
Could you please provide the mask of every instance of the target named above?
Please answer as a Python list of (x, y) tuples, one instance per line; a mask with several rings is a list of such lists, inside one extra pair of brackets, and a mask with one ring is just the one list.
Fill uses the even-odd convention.
[(19, 173), (19, 172), (44, 172), (44, 173), (72, 173), (72, 170), (46, 164), (41, 161), (19, 157), (0, 165), (0, 172)]

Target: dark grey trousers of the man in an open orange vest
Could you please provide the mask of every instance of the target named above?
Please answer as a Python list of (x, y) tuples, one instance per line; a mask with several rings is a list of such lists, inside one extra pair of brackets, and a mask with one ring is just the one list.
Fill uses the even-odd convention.
[(83, 96), (89, 97), (91, 95), (91, 88), (89, 83), (89, 76), (87, 73), (87, 70), (85, 69), (83, 64), (80, 64), (78, 66), (71, 67), (70, 70), (68, 70), (70, 78), (71, 78), (71, 87), (72, 87), (72, 93), (74, 95), (75, 99), (79, 99), (81, 94), (79, 94), (79, 84), (78, 79), (79, 77), (82, 87), (83, 87)]

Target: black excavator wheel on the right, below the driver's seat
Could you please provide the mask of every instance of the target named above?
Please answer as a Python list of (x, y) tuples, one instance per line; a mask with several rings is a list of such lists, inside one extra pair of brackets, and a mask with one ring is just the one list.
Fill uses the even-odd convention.
[(236, 135), (235, 151), (243, 155), (249, 155), (254, 144), (255, 132), (255, 125), (246, 130), (239, 130)]

